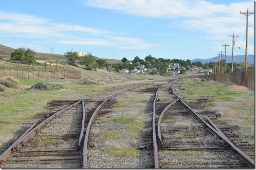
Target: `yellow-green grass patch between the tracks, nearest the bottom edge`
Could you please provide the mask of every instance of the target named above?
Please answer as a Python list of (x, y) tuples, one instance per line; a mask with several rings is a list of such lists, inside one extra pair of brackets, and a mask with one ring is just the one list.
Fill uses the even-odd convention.
[(116, 148), (116, 147), (110, 147), (104, 149), (106, 153), (113, 156), (118, 157), (139, 157), (140, 151), (132, 149), (132, 148)]

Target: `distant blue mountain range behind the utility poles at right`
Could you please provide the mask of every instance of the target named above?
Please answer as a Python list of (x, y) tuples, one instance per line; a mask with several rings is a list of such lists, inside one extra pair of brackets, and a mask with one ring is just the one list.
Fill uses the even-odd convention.
[[(194, 60), (191, 60), (192, 62), (197, 62), (200, 61), (203, 64), (204, 63), (209, 63), (209, 62), (216, 62), (216, 58), (218, 58), (219, 56), (213, 57), (213, 58), (208, 58), (208, 59), (200, 59), (200, 58), (196, 58)], [(223, 60), (225, 60), (225, 55), (223, 55)], [(237, 55), (234, 56), (234, 62), (240, 63), (240, 62), (244, 62), (245, 61), (245, 55)], [(248, 55), (247, 56), (247, 61), (249, 64), (253, 64), (254, 65), (254, 55)], [(228, 56), (227, 55), (227, 63), (231, 63), (232, 62), (232, 56)]]

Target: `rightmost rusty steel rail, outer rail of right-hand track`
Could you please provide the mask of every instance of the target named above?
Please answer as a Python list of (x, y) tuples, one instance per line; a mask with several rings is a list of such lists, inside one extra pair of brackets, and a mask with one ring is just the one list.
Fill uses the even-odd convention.
[[(176, 82), (175, 82), (176, 83)], [(175, 84), (173, 83), (173, 85)], [(171, 86), (171, 90), (173, 91), (173, 85)], [(176, 93), (173, 91), (173, 93), (176, 95)], [(238, 158), (240, 160), (242, 160), (243, 162), (245, 162), (249, 168), (255, 168), (255, 164), (254, 161), (247, 156), (245, 153), (243, 153), (240, 149), (238, 149), (220, 130), (219, 128), (213, 124), (213, 122), (211, 122), (211, 120), (209, 120), (209, 118), (207, 119), (209, 124), (204, 121), (196, 112), (194, 112), (194, 110), (192, 110), (182, 99), (181, 97), (179, 97), (178, 95), (176, 95), (176, 97), (178, 97), (178, 99), (180, 99), (180, 101), (182, 102), (182, 104), (184, 106), (186, 106), (191, 112), (192, 114), (194, 114), (196, 116), (196, 118), (198, 118), (198, 120), (200, 120), (204, 126), (208, 127), (209, 130), (211, 131), (211, 133), (217, 135), (219, 138), (223, 139), (228, 145), (229, 148), (231, 148), (231, 151), (233, 151), (233, 153), (238, 156)], [(210, 125), (211, 124), (211, 125)]]

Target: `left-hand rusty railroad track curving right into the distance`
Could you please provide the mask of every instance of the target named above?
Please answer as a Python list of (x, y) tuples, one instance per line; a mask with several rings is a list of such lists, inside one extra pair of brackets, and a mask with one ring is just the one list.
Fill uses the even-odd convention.
[[(41, 123), (33, 124), (0, 155), (0, 167), (81, 168), (82, 164), (84, 167), (87, 162), (84, 149), (88, 145), (93, 116), (115, 95), (149, 84), (152, 83), (127, 85), (78, 100)], [(61, 102), (55, 104), (61, 105)]]

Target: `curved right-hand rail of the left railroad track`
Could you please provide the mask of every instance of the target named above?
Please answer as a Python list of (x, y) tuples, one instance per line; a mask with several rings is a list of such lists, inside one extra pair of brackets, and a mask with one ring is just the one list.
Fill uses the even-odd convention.
[(121, 92), (118, 92), (118, 93), (115, 93), (113, 95), (111, 95), (111, 97), (105, 99), (100, 105), (99, 107), (97, 107), (97, 109), (93, 112), (93, 114), (91, 115), (91, 118), (89, 120), (89, 123), (87, 125), (87, 128), (86, 128), (86, 132), (85, 132), (85, 138), (84, 138), (84, 142), (83, 142), (83, 168), (88, 168), (88, 162), (87, 162), (87, 146), (88, 146), (88, 140), (89, 140), (89, 131), (90, 131), (90, 128), (91, 128), (91, 124), (93, 122), (93, 119), (95, 118), (97, 112), (101, 109), (101, 107), (103, 106), (103, 104), (105, 102), (107, 102), (107, 100), (111, 99), (112, 97), (120, 94), (120, 93), (123, 93), (123, 91)]

